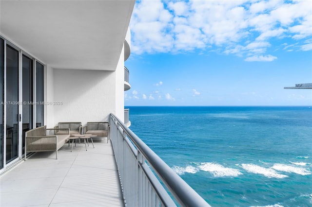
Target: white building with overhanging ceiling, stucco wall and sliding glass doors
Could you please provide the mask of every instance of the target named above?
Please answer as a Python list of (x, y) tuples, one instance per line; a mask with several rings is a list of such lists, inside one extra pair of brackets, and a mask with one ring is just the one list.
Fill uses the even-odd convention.
[(23, 158), (29, 129), (124, 120), (134, 4), (0, 1), (0, 173)]

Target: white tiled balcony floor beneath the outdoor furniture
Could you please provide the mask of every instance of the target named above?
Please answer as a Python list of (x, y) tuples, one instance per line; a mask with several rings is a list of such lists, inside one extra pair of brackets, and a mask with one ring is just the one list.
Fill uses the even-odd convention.
[[(91, 144), (91, 143), (90, 143)], [(40, 152), (0, 177), (1, 207), (123, 207), (111, 143), (65, 144)]]

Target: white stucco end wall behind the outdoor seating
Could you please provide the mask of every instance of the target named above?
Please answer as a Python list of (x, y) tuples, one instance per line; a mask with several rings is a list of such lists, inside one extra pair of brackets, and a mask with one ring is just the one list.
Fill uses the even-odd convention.
[(123, 50), (121, 54), (115, 71), (81, 69), (47, 71), (47, 93), (50, 93), (47, 94), (47, 101), (62, 102), (61, 105), (47, 106), (47, 126), (53, 127), (58, 122), (65, 121), (81, 121), (82, 125), (88, 121), (109, 121), (110, 113), (123, 120)]

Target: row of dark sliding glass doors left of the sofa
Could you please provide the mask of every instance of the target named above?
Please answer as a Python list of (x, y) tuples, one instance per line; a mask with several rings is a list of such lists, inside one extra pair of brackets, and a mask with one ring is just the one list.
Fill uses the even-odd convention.
[(44, 125), (44, 65), (0, 37), (0, 173), (25, 154), (26, 132)]

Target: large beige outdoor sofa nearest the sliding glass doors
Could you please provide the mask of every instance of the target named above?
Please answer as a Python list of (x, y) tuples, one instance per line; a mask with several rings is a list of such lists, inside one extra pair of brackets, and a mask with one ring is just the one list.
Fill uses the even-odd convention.
[(30, 152), (56, 151), (56, 159), (58, 159), (59, 148), (68, 142), (69, 138), (69, 128), (47, 129), (46, 126), (41, 126), (27, 131), (25, 136), (25, 161), (27, 153)]

